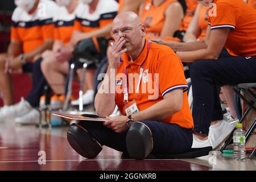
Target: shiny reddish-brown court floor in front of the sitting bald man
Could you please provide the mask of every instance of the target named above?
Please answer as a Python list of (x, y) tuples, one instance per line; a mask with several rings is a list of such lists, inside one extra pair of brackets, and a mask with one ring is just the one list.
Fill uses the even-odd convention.
[(0, 123), (0, 170), (256, 170), (256, 159), (234, 162), (232, 156), (220, 152), (196, 159), (124, 160), (121, 152), (104, 147), (96, 159), (85, 159), (69, 146), (67, 130)]

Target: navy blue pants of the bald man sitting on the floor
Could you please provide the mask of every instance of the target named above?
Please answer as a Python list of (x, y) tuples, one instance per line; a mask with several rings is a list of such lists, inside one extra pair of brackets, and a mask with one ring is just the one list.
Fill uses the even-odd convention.
[[(152, 154), (177, 154), (191, 149), (192, 129), (184, 129), (175, 124), (158, 121), (142, 121), (142, 123), (147, 125), (152, 133)], [(115, 133), (112, 129), (104, 126), (102, 122), (95, 121), (80, 121), (79, 125), (84, 127), (90, 136), (100, 142), (101, 145), (128, 154), (126, 148), (127, 130), (122, 133)]]

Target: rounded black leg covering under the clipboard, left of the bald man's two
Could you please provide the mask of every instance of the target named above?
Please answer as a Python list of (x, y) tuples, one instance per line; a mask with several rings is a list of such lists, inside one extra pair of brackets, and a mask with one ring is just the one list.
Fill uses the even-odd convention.
[(72, 123), (69, 127), (67, 138), (71, 147), (85, 158), (95, 158), (102, 150), (101, 144), (90, 137), (88, 131), (77, 123)]

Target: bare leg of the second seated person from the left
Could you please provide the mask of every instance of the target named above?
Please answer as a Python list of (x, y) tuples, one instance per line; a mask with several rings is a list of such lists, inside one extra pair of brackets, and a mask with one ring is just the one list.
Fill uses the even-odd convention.
[(48, 84), (56, 94), (64, 94), (65, 75), (69, 72), (69, 63), (56, 61), (52, 51), (43, 54), (41, 69)]

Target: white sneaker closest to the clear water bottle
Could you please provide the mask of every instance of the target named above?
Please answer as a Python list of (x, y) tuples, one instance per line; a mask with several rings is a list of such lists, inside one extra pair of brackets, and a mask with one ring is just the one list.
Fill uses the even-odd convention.
[(208, 139), (213, 150), (216, 150), (232, 133), (235, 126), (222, 120), (216, 125), (209, 127)]

